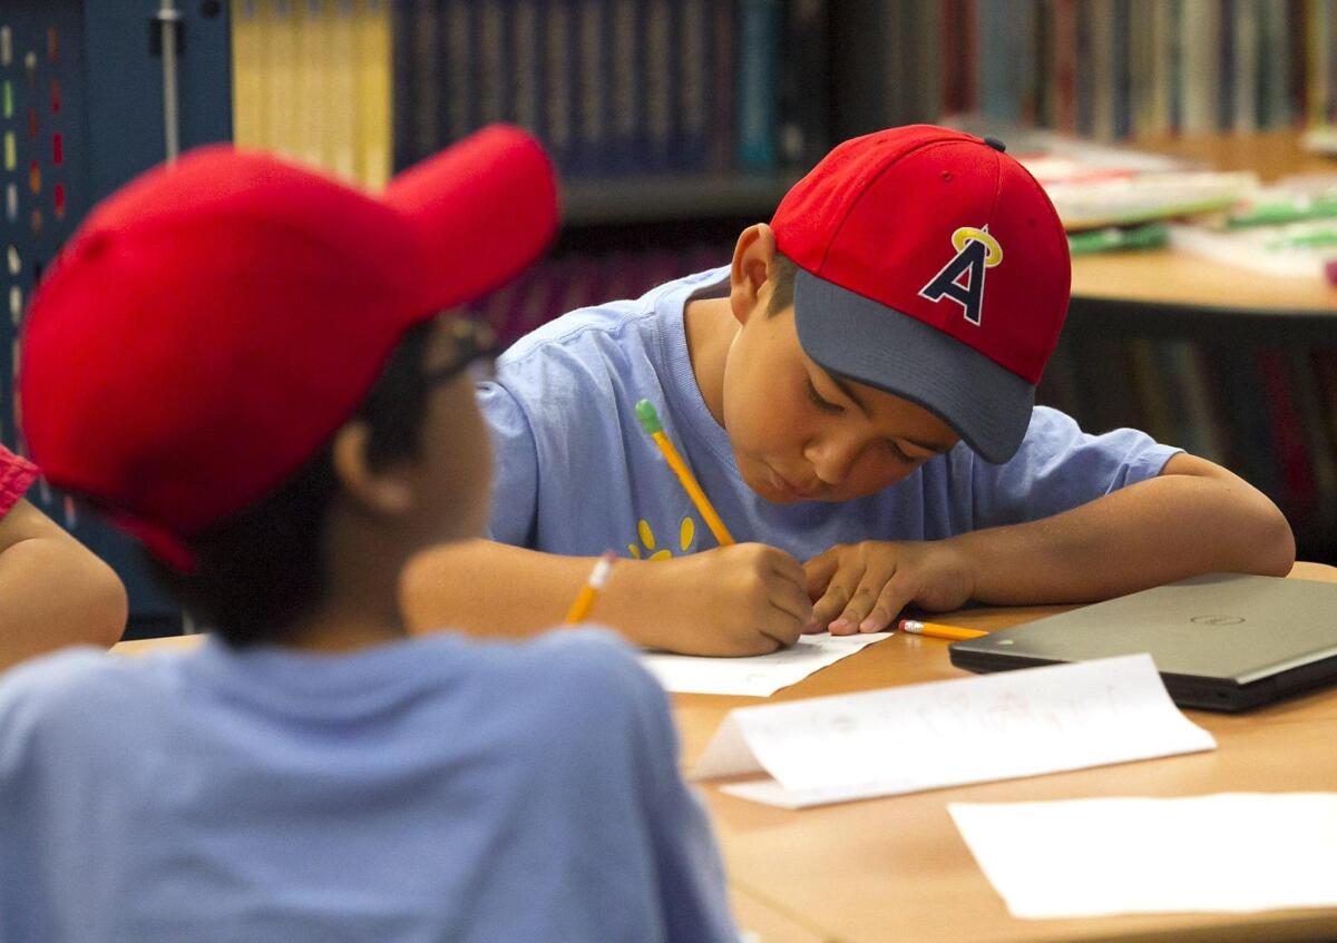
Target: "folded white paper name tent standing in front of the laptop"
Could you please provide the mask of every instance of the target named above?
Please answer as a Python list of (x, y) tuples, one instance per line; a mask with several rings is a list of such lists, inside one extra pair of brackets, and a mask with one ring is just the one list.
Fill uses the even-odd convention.
[(1148, 654), (737, 708), (695, 779), (785, 808), (1214, 749)]

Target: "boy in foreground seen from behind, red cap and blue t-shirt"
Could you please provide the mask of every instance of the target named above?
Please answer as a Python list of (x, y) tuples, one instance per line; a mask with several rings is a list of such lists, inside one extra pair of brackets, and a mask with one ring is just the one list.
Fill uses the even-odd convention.
[(80, 227), (27, 326), (28, 439), (217, 636), (0, 681), (0, 940), (737, 939), (619, 642), (398, 617), (408, 554), (487, 520), (488, 339), (436, 313), (555, 220), (541, 151), (492, 128), (382, 199), (205, 148)]

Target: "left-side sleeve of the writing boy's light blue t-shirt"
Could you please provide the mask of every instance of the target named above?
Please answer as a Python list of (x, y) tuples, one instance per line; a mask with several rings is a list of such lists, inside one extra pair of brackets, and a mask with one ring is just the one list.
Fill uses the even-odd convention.
[(533, 429), (520, 403), (500, 383), (480, 383), (477, 401), (492, 437), (492, 514), (487, 536), (500, 544), (531, 546), (539, 504)]

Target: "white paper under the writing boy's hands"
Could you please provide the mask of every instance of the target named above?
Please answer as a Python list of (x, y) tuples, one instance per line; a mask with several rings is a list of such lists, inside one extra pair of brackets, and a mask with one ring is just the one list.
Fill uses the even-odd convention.
[(706, 658), (695, 654), (647, 653), (640, 663), (659, 679), (666, 691), (683, 695), (751, 695), (769, 697), (781, 688), (802, 681), (813, 672), (836, 664), (889, 632), (833, 636), (800, 636), (789, 648), (745, 658)]

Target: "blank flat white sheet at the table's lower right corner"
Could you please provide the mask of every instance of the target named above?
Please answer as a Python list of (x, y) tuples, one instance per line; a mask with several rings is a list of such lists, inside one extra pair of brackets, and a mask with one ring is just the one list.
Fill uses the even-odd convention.
[(1013, 916), (1337, 907), (1337, 793), (951, 803)]

